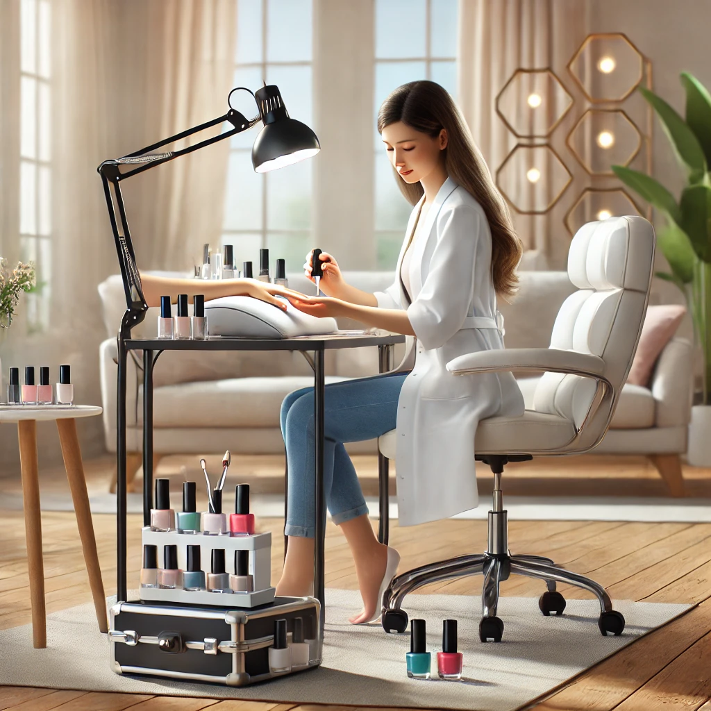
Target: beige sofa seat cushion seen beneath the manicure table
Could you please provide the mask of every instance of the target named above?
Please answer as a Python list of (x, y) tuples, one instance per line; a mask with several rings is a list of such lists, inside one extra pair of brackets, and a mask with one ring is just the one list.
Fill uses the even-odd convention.
[[(348, 378), (326, 376), (326, 383), (341, 380)], [(156, 387), (154, 427), (279, 427), (284, 397), (300, 387), (313, 385), (312, 375), (230, 378)], [(138, 410), (142, 424), (143, 408)]]

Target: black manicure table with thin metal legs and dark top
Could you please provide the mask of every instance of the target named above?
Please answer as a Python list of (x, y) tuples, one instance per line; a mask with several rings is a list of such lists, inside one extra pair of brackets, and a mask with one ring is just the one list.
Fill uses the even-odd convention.
[[(127, 314), (130, 314), (127, 311)], [(124, 338), (118, 336), (118, 410), (117, 410), (117, 598), (127, 597), (127, 533), (126, 533), (126, 387), (127, 353), (143, 352), (143, 515), (144, 525), (150, 525), (153, 508), (153, 368), (163, 351), (299, 351), (314, 370), (314, 422), (316, 437), (316, 542), (314, 551), (314, 597), (324, 608), (324, 539), (326, 536), (326, 505), (324, 499), (324, 356), (333, 348), (363, 348), (378, 346), (379, 370), (385, 373), (392, 365), (395, 343), (404, 343), (405, 336), (390, 333), (384, 336), (343, 331), (321, 336), (296, 338), (232, 338), (211, 336), (205, 341), (165, 340), (158, 338)], [(235, 403), (238, 405), (238, 403)], [(288, 471), (287, 471), (288, 476)], [(378, 457), (380, 493), (380, 528), (378, 538), (387, 543), (387, 459)], [(287, 497), (284, 496), (286, 517)], [(324, 614), (321, 614), (323, 629)]]

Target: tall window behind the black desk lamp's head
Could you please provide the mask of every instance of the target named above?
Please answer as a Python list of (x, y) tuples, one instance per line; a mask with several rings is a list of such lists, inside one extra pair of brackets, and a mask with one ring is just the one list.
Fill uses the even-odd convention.
[[(234, 86), (256, 91), (264, 81), (276, 84), (289, 115), (309, 126), (311, 25), (311, 0), (238, 0)], [(235, 93), (232, 105), (255, 116), (247, 92)], [(252, 144), (258, 130), (259, 125), (230, 139), (223, 245), (234, 245), (238, 269), (253, 262), (255, 276), (260, 247), (269, 248), (271, 269), (284, 258), (287, 270), (299, 271), (311, 246), (313, 161), (255, 173)]]

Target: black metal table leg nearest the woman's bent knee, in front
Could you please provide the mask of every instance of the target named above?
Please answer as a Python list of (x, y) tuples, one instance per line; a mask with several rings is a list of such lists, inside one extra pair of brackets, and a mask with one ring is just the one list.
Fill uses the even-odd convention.
[(326, 503), (324, 500), (324, 350), (314, 353), (314, 453), (316, 469), (316, 531), (314, 541), (314, 594), (321, 603), (321, 632), (325, 615)]

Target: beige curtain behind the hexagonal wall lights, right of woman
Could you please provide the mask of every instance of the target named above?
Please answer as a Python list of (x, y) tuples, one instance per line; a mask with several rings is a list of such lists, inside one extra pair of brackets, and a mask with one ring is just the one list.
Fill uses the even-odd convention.
[[(517, 140), (495, 111), (496, 96), (515, 70), (552, 68), (577, 98), (565, 67), (586, 34), (585, 5), (569, 0), (459, 0), (459, 105), (492, 175)], [(565, 156), (572, 113), (550, 143), (574, 171), (575, 161)], [(564, 205), (570, 206), (567, 199), (546, 215), (520, 215), (511, 209), (525, 248), (540, 250), (552, 269), (565, 266), (570, 242), (562, 223)]]

